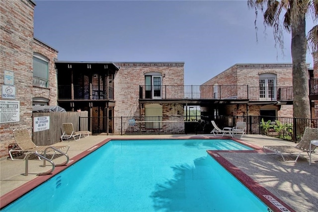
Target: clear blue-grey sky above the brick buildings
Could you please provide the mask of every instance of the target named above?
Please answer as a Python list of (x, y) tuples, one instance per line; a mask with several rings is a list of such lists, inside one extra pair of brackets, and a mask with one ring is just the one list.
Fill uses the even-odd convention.
[[(34, 37), (60, 61), (184, 62), (184, 85), (235, 64), (291, 63), (291, 36), (275, 47), (271, 27), (247, 0), (36, 0)], [(317, 22), (307, 19), (308, 32)], [(257, 38), (256, 38), (257, 37)], [(313, 67), (308, 51), (307, 63)]]

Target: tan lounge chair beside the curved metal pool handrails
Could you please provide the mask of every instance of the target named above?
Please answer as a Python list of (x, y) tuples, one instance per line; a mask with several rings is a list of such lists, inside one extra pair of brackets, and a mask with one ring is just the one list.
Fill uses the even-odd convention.
[[(11, 147), (9, 150), (9, 156), (11, 160), (24, 160), (28, 153), (30, 152), (36, 152), (38, 154), (43, 154), (44, 150), (48, 147), (55, 147), (59, 150), (65, 148), (65, 153), (68, 152), (70, 146), (55, 146), (55, 145), (45, 145), (45, 146), (37, 146), (31, 139), (31, 136), (29, 135), (29, 132), (27, 129), (16, 129), (13, 130), (13, 136), (15, 140), (15, 145)], [(54, 149), (49, 148), (47, 151), (54, 151), (54, 154), (52, 155), (52, 158), (54, 158), (54, 155), (56, 151)], [(20, 155), (25, 154), (23, 159), (17, 159), (14, 158), (14, 155)], [(40, 159), (40, 158), (39, 158)], [(40, 159), (41, 160), (41, 159)]]

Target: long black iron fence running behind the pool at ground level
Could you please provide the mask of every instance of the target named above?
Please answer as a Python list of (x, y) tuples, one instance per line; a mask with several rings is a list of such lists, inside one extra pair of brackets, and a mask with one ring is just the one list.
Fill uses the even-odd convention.
[[(156, 116), (156, 117), (80, 117), (92, 134), (163, 135), (209, 134), (211, 121), (222, 129), (246, 122), (247, 134), (261, 134), (289, 141), (299, 141), (306, 127), (318, 127), (318, 119), (271, 116)], [(80, 129), (79, 129), (80, 130)]]

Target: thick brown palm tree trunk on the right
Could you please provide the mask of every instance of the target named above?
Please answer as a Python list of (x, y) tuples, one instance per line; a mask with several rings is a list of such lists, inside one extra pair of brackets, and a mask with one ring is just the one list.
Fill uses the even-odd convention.
[(294, 117), (310, 119), (309, 75), (306, 64), (306, 20), (305, 16), (298, 18), (298, 25), (292, 24), (292, 60), (293, 60), (293, 92)]

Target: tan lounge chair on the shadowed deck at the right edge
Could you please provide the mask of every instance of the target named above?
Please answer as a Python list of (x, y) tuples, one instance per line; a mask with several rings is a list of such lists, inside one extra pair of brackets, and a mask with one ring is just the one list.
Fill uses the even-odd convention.
[[(276, 145), (276, 146), (263, 146), (264, 152), (266, 154), (280, 154), (284, 160), (284, 162), (297, 162), (298, 157), (303, 152), (307, 152), (308, 156), (310, 153), (310, 145), (311, 151), (313, 152), (316, 145), (310, 144), (310, 141), (318, 139), (318, 129), (317, 128), (306, 128), (302, 139), (297, 143), (296, 146), (289, 145)], [(295, 160), (286, 160), (283, 153), (297, 153), (297, 157)]]

